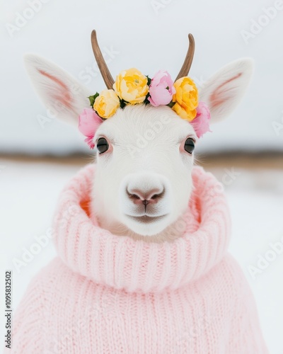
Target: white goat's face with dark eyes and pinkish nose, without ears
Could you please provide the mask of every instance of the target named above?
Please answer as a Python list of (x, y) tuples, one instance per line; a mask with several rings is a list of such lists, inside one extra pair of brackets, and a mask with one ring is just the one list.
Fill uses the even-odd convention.
[(129, 105), (103, 122), (94, 140), (103, 146), (93, 187), (103, 227), (151, 236), (182, 215), (192, 190), (192, 125), (166, 106)]

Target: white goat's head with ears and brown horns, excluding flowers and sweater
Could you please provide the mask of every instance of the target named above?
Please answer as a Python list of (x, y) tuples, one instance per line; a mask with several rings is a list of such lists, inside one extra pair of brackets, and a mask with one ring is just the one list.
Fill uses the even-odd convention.
[[(92, 44), (105, 84), (112, 88), (114, 80), (95, 32)], [(192, 55), (189, 46), (178, 77), (187, 76)], [(27, 55), (25, 64), (47, 108), (58, 118), (78, 125), (92, 92), (46, 59)], [(200, 101), (209, 106), (212, 122), (225, 118), (236, 107), (252, 72), (250, 59), (238, 59), (203, 84)], [(100, 227), (148, 241), (172, 239), (171, 229), (192, 193), (192, 150), (197, 142), (192, 125), (168, 106), (128, 105), (98, 127), (94, 140), (99, 139), (106, 139), (107, 151), (98, 151), (96, 156), (91, 213), (98, 217)], [(186, 141), (189, 152), (184, 149)]]

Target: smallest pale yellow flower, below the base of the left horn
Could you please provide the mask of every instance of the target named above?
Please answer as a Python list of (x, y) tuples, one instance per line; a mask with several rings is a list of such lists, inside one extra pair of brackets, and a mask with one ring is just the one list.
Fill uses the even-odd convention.
[(101, 91), (93, 103), (93, 109), (101, 118), (111, 117), (119, 107), (120, 99), (112, 89)]

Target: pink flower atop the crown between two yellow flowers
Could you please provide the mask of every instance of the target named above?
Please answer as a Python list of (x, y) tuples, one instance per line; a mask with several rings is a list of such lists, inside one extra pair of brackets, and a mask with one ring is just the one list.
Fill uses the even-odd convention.
[(176, 92), (173, 80), (168, 72), (159, 70), (151, 79), (149, 86), (149, 102), (157, 107), (158, 105), (168, 105), (173, 94)]

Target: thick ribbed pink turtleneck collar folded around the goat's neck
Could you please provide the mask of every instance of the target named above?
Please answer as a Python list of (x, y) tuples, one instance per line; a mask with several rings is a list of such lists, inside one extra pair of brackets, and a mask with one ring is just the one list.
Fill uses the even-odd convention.
[(64, 188), (54, 219), (59, 257), (71, 270), (101, 285), (128, 292), (175, 290), (207, 273), (226, 252), (230, 218), (221, 186), (194, 167), (194, 192), (185, 213), (185, 231), (161, 244), (134, 241), (101, 229), (90, 219), (95, 166), (88, 165)]

